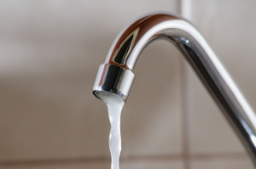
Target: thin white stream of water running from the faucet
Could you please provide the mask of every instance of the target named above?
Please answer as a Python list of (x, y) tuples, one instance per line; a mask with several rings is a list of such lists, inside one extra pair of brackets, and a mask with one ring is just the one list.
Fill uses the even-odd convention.
[(106, 104), (108, 105), (108, 116), (111, 124), (109, 134), (111, 169), (119, 169), (119, 155), (121, 152), (120, 116), (124, 104)]

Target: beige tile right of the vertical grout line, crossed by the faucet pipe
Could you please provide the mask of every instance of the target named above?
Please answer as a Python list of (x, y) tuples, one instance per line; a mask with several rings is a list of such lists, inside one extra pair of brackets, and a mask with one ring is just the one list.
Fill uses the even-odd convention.
[[(206, 37), (241, 92), (256, 110), (256, 38), (255, 1), (193, 0), (192, 21)], [(189, 70), (192, 71), (192, 70)], [(224, 115), (203, 89), (194, 73), (189, 72), (190, 145), (192, 154), (244, 152)]]

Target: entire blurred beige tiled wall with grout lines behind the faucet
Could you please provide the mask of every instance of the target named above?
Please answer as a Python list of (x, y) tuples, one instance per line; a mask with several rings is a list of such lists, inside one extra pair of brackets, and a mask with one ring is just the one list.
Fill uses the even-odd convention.
[[(0, 1), (0, 168), (110, 168), (107, 106), (92, 86), (119, 31), (151, 11), (191, 20), (256, 110), (255, 8), (254, 0)], [(134, 72), (121, 169), (253, 168), (172, 44), (151, 43)]]

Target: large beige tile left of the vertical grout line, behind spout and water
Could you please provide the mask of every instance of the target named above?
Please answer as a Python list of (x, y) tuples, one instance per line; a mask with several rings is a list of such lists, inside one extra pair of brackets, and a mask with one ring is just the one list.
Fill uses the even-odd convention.
[[(96, 70), (122, 27), (152, 10), (175, 12), (177, 1), (0, 2), (0, 161), (109, 156)], [(180, 153), (179, 57), (167, 45), (138, 61), (122, 116), (126, 156)]]

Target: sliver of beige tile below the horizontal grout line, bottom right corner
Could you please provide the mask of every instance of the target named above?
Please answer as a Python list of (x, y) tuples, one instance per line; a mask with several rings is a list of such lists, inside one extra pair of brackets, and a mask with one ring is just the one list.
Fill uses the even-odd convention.
[(253, 163), (248, 157), (241, 158), (213, 158), (213, 159), (202, 159), (194, 160), (191, 163), (191, 169), (253, 169)]

